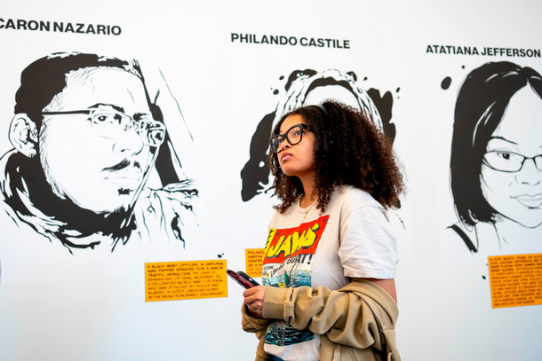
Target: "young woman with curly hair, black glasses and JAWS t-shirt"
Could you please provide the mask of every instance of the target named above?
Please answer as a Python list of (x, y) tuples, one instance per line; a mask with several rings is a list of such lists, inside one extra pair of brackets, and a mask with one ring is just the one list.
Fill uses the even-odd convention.
[(386, 208), (398, 204), (403, 177), (390, 143), (360, 111), (326, 101), (285, 114), (270, 145), (282, 203), (269, 226), (264, 286), (243, 293), (256, 359), (398, 360)]

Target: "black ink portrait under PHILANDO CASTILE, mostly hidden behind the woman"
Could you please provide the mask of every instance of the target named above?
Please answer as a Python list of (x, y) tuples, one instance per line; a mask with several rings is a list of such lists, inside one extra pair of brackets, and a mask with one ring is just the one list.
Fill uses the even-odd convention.
[[(250, 159), (241, 171), (243, 201), (271, 190), (266, 164), (269, 135), (275, 122), (278, 122), (283, 114), (299, 106), (320, 104), (328, 98), (337, 99), (362, 110), (392, 142), (395, 139), (395, 124), (391, 122), (391, 93), (386, 92), (381, 97), (379, 90), (364, 90), (353, 72), (342, 73), (335, 69), (323, 72), (312, 69), (296, 70), (289, 76), (284, 90), (275, 111), (263, 117), (251, 138)], [(275, 93), (277, 92), (278, 90), (275, 90)]]

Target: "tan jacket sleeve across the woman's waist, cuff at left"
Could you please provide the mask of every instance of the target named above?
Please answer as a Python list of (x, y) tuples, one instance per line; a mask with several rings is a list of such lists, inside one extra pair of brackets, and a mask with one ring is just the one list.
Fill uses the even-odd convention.
[(326, 334), (330, 341), (357, 349), (383, 349), (386, 341), (381, 339), (379, 322), (385, 329), (394, 330), (398, 310), (380, 286), (355, 280), (336, 291), (323, 286), (267, 287), (263, 316), (283, 319), (297, 329)]

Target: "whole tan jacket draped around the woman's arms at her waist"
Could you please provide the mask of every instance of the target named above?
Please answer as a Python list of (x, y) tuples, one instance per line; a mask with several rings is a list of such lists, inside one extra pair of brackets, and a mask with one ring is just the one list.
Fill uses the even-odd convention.
[[(255, 360), (271, 358), (264, 351), (264, 336), (271, 321), (252, 317), (245, 305), (242, 314), (243, 330), (259, 339)], [(283, 319), (297, 329), (308, 327), (320, 334), (321, 361), (401, 361), (395, 343), (398, 315), (394, 299), (364, 279), (336, 291), (324, 286), (268, 286), (263, 306), (265, 318)]]

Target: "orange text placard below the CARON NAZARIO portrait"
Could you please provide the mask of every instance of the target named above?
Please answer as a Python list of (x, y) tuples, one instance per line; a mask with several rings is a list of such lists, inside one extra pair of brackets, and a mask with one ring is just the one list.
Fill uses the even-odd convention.
[(226, 260), (145, 263), (145, 301), (227, 297)]

